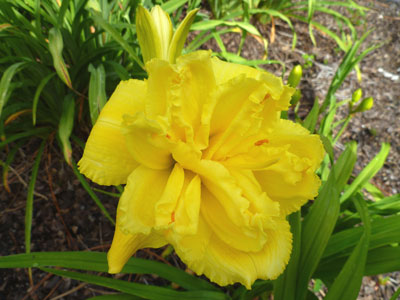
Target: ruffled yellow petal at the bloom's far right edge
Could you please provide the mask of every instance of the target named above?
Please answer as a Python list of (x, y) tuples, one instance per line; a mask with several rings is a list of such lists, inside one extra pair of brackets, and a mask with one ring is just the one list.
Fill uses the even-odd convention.
[(317, 135), (287, 120), (281, 120), (268, 139), (269, 147), (286, 150), (276, 164), (254, 174), (263, 190), (279, 202), (282, 213), (287, 215), (317, 196), (321, 182), (314, 173), (324, 150)]

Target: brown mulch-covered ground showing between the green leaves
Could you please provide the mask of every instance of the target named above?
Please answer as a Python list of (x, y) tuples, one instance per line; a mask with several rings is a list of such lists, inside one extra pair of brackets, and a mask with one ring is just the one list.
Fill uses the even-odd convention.
[[(374, 183), (385, 195), (393, 195), (400, 192), (400, 3), (368, 0), (358, 3), (371, 9), (367, 12), (367, 21), (357, 29), (363, 31), (374, 28), (366, 45), (382, 43), (382, 46), (360, 64), (362, 81), (359, 82), (355, 72), (352, 72), (337, 96), (339, 100), (347, 99), (355, 89), (361, 87), (365, 96), (374, 98), (374, 107), (352, 119), (336, 150), (342, 150), (346, 141), (358, 142), (356, 174), (378, 153), (383, 142), (390, 142), (391, 152), (384, 167), (374, 178)], [(316, 18), (327, 26), (334, 26), (334, 21), (329, 18), (322, 15)], [(269, 59), (284, 61), (290, 68), (298, 63), (303, 64), (305, 55), (314, 55), (311, 66), (304, 70), (300, 85), (304, 95), (301, 111), (305, 112), (315, 96), (324, 98), (343, 53), (336, 49), (329, 37), (317, 30), (314, 30), (317, 45), (313, 46), (308, 36), (308, 27), (301, 23), (295, 23), (298, 43), (292, 52), (290, 29), (283, 22), (276, 21), (275, 25), (275, 41), (268, 48)], [(271, 26), (257, 26), (269, 39)], [(235, 34), (224, 37), (229, 49), (237, 47), (239, 40)], [(212, 43), (208, 46), (215, 49)], [(249, 37), (244, 45), (243, 56), (250, 59), (262, 58), (262, 46)], [(267, 69), (277, 74), (281, 71), (276, 65), (268, 65)], [(343, 110), (339, 116), (344, 115)], [(82, 138), (86, 138), (88, 130), (83, 130), (81, 134)], [(37, 149), (38, 142), (33, 140), (19, 149), (8, 177), (11, 193), (0, 186), (0, 255), (25, 251), (27, 182), (36, 155), (31, 149)], [(48, 145), (45, 149), (35, 189), (32, 251), (106, 251), (111, 243), (113, 227), (81, 187), (70, 167), (63, 162), (60, 151), (54, 147)], [(75, 149), (74, 155), (79, 159), (81, 150)], [(4, 156), (5, 153), (1, 153), (0, 159), (3, 160)], [(108, 211), (115, 212), (117, 198), (101, 193), (98, 196)], [(141, 251), (140, 255), (151, 257), (154, 254)], [(174, 261), (171, 263), (179, 264)], [(32, 293), (25, 269), (1, 269), (0, 278), (0, 299), (86, 299), (108, 292), (100, 287), (47, 275), (37, 269), (33, 270)], [(147, 279), (142, 276), (136, 280), (145, 282)], [(359, 299), (389, 299), (394, 288), (399, 285), (400, 272), (366, 277)]]

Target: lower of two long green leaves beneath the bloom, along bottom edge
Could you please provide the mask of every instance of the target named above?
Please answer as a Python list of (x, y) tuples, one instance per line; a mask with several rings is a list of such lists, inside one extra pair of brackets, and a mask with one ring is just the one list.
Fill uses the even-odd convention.
[(135, 282), (126, 282), (123, 280), (113, 279), (113, 278), (106, 278), (102, 276), (96, 275), (89, 275), (89, 274), (82, 274), (78, 272), (72, 271), (63, 271), (63, 270), (56, 270), (56, 269), (49, 269), (49, 268), (41, 268), (43, 271), (68, 277), (84, 282), (88, 282), (91, 284), (100, 285), (103, 287), (108, 287), (111, 289), (115, 289), (117, 291), (127, 293), (130, 295), (135, 295), (139, 297), (143, 297), (145, 299), (151, 300), (226, 300), (228, 297), (227, 295), (221, 292), (214, 292), (214, 291), (188, 291), (188, 292), (178, 292), (169, 288), (159, 287), (159, 286), (151, 286), (151, 285), (144, 285)]

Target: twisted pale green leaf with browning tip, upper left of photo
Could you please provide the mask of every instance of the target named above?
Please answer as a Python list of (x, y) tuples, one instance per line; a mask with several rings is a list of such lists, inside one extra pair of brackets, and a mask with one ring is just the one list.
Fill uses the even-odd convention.
[(71, 78), (69, 77), (67, 66), (65, 65), (62, 51), (64, 48), (63, 38), (60, 30), (51, 28), (49, 30), (49, 50), (53, 57), (53, 65), (61, 80), (72, 89)]

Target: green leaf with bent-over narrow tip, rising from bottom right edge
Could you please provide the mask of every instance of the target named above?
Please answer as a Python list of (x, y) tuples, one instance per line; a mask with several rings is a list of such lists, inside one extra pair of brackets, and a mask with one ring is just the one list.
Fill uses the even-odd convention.
[(361, 220), (364, 224), (364, 233), (333, 285), (329, 288), (325, 300), (356, 299), (360, 291), (367, 261), (371, 223), (367, 205), (360, 195), (354, 199), (354, 204), (361, 215)]

